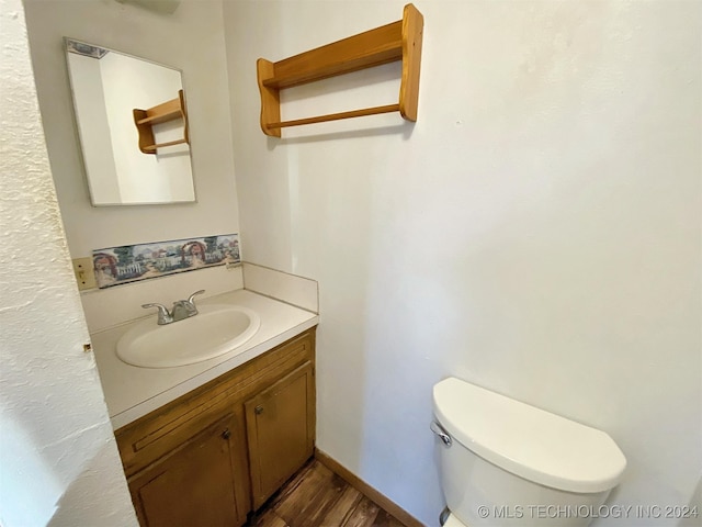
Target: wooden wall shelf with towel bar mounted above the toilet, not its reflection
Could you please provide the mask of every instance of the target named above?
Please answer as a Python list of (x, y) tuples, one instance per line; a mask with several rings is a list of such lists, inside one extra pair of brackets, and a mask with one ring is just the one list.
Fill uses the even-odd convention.
[[(348, 38), (271, 63), (257, 61), (261, 92), (261, 130), (280, 137), (281, 128), (322, 123), (340, 119), (399, 112), (408, 121), (417, 121), (419, 70), (424, 19), (411, 3), (405, 5), (403, 20)], [(383, 64), (403, 61), (399, 102), (315, 117), (281, 121), (280, 90), (316, 80), (350, 74)]]

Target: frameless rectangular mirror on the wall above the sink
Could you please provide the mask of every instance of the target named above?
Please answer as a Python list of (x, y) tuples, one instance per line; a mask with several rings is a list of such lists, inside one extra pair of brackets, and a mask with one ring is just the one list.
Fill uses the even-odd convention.
[(195, 201), (181, 72), (65, 38), (93, 205)]

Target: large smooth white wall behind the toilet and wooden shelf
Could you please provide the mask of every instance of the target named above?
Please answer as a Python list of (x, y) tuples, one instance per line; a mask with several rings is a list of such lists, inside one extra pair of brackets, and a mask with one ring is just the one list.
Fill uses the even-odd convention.
[[(224, 2), (247, 259), (319, 281), (318, 447), (438, 525), (431, 386), (456, 375), (610, 434), (629, 460), (610, 504), (694, 503), (702, 4), (415, 4), (416, 124), (275, 139), (256, 59), (403, 2)], [(380, 69), (285, 92), (283, 117), (393, 102), (398, 70)]]

